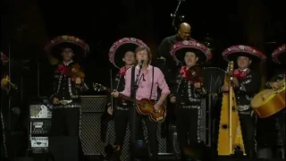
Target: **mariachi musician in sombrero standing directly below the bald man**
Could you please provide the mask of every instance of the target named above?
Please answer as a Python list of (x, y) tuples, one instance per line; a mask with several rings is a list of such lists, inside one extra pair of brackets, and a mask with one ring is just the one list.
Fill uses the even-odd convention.
[(201, 98), (206, 95), (201, 67), (198, 65), (212, 58), (212, 53), (197, 41), (181, 41), (174, 44), (171, 55), (184, 64), (171, 89), (170, 99), (176, 104), (177, 132), (181, 160), (187, 159), (184, 149), (198, 147)]

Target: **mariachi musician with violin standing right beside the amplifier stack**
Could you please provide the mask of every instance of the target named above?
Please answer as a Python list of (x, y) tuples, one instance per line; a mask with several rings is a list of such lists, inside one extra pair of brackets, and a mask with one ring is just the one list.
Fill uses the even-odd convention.
[[(54, 74), (54, 92), (50, 97), (54, 104), (51, 136), (80, 136), (80, 93), (88, 89), (84, 73), (73, 57), (88, 54), (88, 45), (80, 38), (60, 36), (45, 47), (48, 54), (62, 58)], [(80, 146), (80, 145), (79, 145)]]

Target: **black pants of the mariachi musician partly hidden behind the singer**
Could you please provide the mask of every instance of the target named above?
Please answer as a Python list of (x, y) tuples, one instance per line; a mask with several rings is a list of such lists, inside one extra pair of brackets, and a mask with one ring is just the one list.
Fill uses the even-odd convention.
[[(132, 107), (132, 106), (130, 106)], [(114, 109), (114, 129), (115, 129), (115, 146), (120, 146), (122, 149), (123, 143), (125, 140), (125, 135), (127, 131), (127, 124), (129, 122), (129, 111), (128, 110), (120, 110)], [(139, 127), (142, 126), (142, 123), (139, 123)], [(138, 140), (144, 140), (143, 129), (139, 128)]]

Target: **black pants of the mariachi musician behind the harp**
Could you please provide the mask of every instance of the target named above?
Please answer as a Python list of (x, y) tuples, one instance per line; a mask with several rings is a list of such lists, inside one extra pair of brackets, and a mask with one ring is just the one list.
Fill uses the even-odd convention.
[(240, 127), (245, 152), (248, 157), (256, 157), (256, 118), (250, 111), (239, 112)]

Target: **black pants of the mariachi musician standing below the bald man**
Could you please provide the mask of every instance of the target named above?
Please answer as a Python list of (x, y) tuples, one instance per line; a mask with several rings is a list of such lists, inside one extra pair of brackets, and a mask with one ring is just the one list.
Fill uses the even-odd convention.
[(176, 111), (176, 119), (181, 160), (184, 160), (186, 159), (184, 149), (198, 145), (198, 109), (179, 107)]

